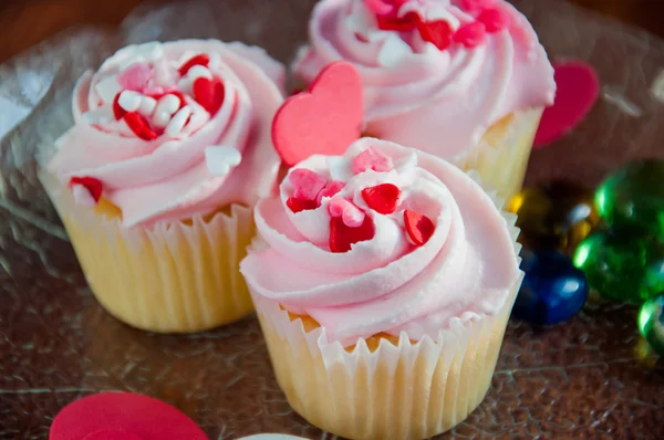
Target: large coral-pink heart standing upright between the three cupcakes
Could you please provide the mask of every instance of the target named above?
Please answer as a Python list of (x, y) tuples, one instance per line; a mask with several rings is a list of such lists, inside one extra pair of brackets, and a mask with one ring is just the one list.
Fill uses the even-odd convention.
[(362, 134), (362, 80), (346, 62), (329, 64), (274, 115), (272, 142), (288, 166), (311, 155), (343, 155)]

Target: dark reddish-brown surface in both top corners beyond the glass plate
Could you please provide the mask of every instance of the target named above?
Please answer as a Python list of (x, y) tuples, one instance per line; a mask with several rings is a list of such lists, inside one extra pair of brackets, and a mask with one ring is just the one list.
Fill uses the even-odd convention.
[[(664, 1), (662, 0), (570, 1), (664, 36), (662, 19)], [(142, 2), (142, 0), (0, 0), (0, 62), (71, 25), (117, 25), (133, 8)]]

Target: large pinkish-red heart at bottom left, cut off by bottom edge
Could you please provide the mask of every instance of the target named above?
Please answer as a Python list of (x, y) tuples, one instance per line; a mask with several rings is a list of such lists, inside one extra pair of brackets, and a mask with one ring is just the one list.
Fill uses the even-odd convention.
[(68, 405), (53, 420), (49, 433), (49, 440), (135, 438), (207, 439), (179, 410), (157, 399), (128, 392), (102, 392)]

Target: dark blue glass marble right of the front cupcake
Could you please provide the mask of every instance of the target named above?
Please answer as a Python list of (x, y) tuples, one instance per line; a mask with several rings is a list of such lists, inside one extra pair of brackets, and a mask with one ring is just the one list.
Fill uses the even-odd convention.
[(583, 272), (560, 252), (521, 252), (526, 273), (512, 316), (532, 324), (556, 324), (574, 316), (588, 300)]

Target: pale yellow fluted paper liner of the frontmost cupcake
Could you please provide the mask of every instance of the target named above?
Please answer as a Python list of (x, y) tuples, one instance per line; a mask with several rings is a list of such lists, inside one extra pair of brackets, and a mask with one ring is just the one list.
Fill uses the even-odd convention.
[[(496, 191), (489, 196), (502, 206)], [(502, 216), (518, 254), (516, 216)], [(264, 245), (257, 238), (249, 252)], [(364, 339), (350, 350), (328, 343), (324, 328), (308, 333), (277, 302), (251, 294), (277, 381), (298, 413), (350, 439), (424, 439), (461, 422), (485, 398), (522, 276), (496, 314), (453, 318), (435, 339), (383, 338), (374, 350)]]

